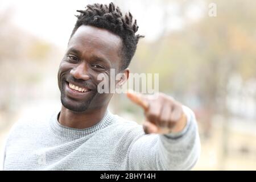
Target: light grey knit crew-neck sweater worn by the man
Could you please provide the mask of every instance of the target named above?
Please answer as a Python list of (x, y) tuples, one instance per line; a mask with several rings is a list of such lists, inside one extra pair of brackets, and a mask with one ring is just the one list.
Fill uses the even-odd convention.
[(48, 118), (19, 121), (6, 142), (5, 170), (188, 170), (200, 155), (195, 115), (176, 134), (144, 134), (141, 125), (106, 111), (86, 129)]

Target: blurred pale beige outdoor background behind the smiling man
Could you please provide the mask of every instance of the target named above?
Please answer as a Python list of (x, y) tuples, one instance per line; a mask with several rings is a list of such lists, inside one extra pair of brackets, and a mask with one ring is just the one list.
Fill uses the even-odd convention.
[[(1, 152), (19, 118), (60, 109), (57, 69), (74, 15), (95, 2), (110, 1), (0, 1)], [(113, 2), (146, 36), (131, 72), (159, 73), (160, 92), (195, 111), (202, 149), (193, 170), (256, 170), (256, 1)], [(143, 121), (125, 94), (110, 110)]]

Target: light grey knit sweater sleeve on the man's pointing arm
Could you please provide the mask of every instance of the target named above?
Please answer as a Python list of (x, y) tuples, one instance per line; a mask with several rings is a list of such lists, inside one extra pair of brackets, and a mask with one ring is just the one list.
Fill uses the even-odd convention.
[(180, 133), (148, 134), (135, 140), (129, 151), (130, 170), (190, 170), (200, 156), (195, 114), (183, 106), (187, 125)]

